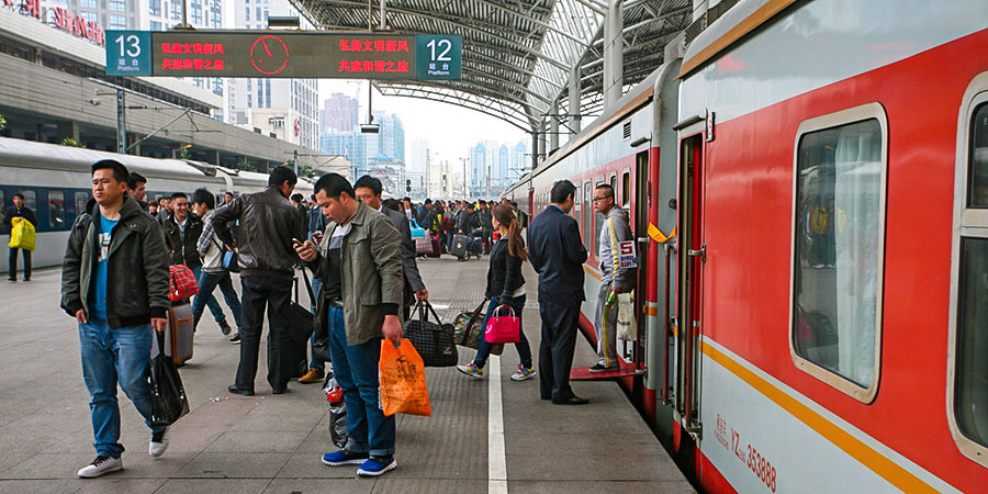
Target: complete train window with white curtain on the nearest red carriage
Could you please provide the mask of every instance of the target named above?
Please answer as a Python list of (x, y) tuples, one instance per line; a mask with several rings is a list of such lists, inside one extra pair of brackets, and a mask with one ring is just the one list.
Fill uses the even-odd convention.
[(865, 403), (880, 361), (884, 136), (884, 110), (865, 105), (804, 123), (796, 150), (794, 359)]

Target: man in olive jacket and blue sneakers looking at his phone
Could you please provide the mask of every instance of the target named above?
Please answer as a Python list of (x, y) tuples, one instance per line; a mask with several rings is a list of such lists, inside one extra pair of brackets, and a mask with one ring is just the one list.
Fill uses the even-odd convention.
[(378, 476), (397, 467), (395, 418), (384, 416), (379, 404), (378, 362), (382, 339), (388, 345), (402, 340), (401, 237), (388, 216), (355, 199), (339, 175), (324, 175), (315, 191), (333, 221), (323, 237), (325, 256), (307, 240), (296, 250), (323, 279), (315, 324), (328, 327), (349, 436), (343, 450), (323, 456), (323, 463), (359, 464), (358, 475)]

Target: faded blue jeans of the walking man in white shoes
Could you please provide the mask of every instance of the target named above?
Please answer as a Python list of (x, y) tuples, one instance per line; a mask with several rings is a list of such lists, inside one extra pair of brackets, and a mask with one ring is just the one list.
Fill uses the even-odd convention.
[[(120, 458), (120, 406), (116, 383), (124, 391), (144, 423), (151, 427), (151, 389), (148, 383), (148, 357), (151, 348), (149, 324), (110, 329), (105, 321), (89, 319), (79, 325), (82, 350), (82, 379), (89, 390), (92, 416), (92, 446), (97, 454)], [(164, 430), (164, 428), (161, 428)]]

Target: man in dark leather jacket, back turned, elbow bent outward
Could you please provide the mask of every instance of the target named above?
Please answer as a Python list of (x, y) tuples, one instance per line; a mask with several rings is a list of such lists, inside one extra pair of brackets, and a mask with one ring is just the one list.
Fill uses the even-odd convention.
[[(299, 178), (288, 167), (277, 167), (268, 177), (262, 192), (243, 194), (213, 215), (216, 236), (237, 249), (240, 266), (240, 288), (244, 327), (240, 328), (240, 363), (231, 393), (254, 394), (260, 334), (268, 306), (268, 383), (274, 394), (284, 393), (289, 380), (282, 363), (289, 340), (292, 279), (299, 256), (292, 239), (302, 240), (302, 220), (291, 201)], [(238, 238), (234, 242), (228, 225), (239, 220)]]

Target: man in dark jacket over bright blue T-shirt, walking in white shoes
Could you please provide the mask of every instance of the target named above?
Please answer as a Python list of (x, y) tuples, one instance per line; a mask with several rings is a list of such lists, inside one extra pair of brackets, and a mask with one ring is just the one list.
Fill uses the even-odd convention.
[(148, 384), (151, 328), (164, 332), (168, 300), (168, 252), (161, 227), (126, 193), (127, 169), (104, 159), (92, 166), (92, 195), (69, 233), (61, 265), (61, 308), (79, 323), (82, 378), (89, 390), (97, 458), (82, 478), (121, 470), (116, 385), (151, 429), (148, 452), (168, 448), (168, 429), (151, 426)]

